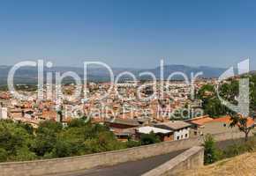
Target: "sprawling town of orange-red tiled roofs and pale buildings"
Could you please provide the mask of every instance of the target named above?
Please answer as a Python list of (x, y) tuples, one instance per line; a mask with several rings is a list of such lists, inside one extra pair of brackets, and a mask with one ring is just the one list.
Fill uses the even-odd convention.
[[(21, 121), (37, 128), (41, 121), (58, 121), (66, 126), (72, 119), (86, 117), (87, 121), (109, 127), (117, 140), (139, 140), (142, 134), (154, 133), (161, 141), (177, 141), (207, 134), (237, 132), (230, 127), (230, 116), (211, 117), (202, 109), (202, 99), (192, 99), (192, 85), (184, 81), (164, 82), (161, 99), (160, 82), (147, 81), (147, 86), (140, 90), (143, 82), (123, 81), (114, 84), (107, 97), (109, 83), (87, 84), (87, 98), (81, 93), (79, 99), (72, 94), (75, 84), (62, 85), (61, 100), (56, 91), (44, 93), (44, 100), (37, 99), (37, 92), (19, 93), (26, 99), (16, 99), (11, 92), (0, 93), (0, 119)], [(216, 84), (215, 79), (199, 79), (194, 83), (196, 94), (203, 85)], [(46, 84), (45, 87), (49, 85)], [(85, 85), (83, 85), (85, 86)], [(155, 88), (155, 92), (154, 92)], [(59, 92), (58, 92), (59, 93)], [(211, 92), (205, 92), (206, 96)], [(151, 99), (146, 99), (152, 96)], [(143, 99), (144, 98), (144, 99)], [(254, 121), (249, 118), (248, 125)]]

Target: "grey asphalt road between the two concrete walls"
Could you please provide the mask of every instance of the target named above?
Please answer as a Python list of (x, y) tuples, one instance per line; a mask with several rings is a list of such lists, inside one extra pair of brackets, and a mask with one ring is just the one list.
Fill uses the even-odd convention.
[(119, 165), (98, 167), (85, 171), (58, 174), (57, 176), (138, 176), (142, 173), (154, 169), (159, 165), (162, 165), (163, 163), (169, 161), (169, 159), (171, 158), (175, 158), (183, 151), (184, 150), (174, 151), (165, 155), (140, 159), (137, 161), (129, 161)]

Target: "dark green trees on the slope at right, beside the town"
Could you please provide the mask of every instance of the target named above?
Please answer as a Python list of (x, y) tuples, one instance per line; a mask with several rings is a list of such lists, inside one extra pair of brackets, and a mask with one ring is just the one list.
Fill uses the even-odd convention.
[[(245, 75), (241, 78), (249, 78), (250, 81), (250, 115), (255, 116), (256, 109), (256, 75)], [(235, 79), (227, 80), (228, 82), (222, 84), (219, 88), (220, 96), (223, 99), (228, 100), (230, 103), (237, 105), (236, 97), (239, 92), (239, 84)], [(203, 100), (203, 109), (205, 114), (209, 114), (211, 117), (220, 117), (222, 115), (229, 114), (231, 117), (230, 127), (237, 126), (240, 131), (245, 133), (245, 141), (248, 140), (248, 135), (252, 127), (247, 127), (248, 119), (242, 117), (241, 114), (232, 112), (228, 107), (222, 105), (220, 99), (218, 99), (214, 85), (206, 84), (201, 87), (197, 93), (197, 97)]]

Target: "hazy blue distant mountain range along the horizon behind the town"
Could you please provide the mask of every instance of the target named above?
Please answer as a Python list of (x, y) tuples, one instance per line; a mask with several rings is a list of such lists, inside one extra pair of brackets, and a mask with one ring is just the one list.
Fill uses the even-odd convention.
[[(11, 66), (0, 66), (0, 84), (6, 84), (7, 83), (7, 76), (8, 72), (11, 70)], [(131, 68), (112, 68), (113, 73), (115, 76), (117, 76), (119, 73), (124, 71), (130, 71), (132, 72), (137, 78), (139, 79), (148, 79), (150, 77), (144, 76), (139, 77), (139, 73), (149, 71), (154, 74), (156, 78), (161, 77), (161, 68), (156, 67), (154, 69), (131, 69)], [(226, 69), (223, 68), (214, 68), (214, 67), (207, 67), (207, 66), (199, 66), (199, 67), (192, 67), (192, 66), (186, 66), (186, 65), (164, 65), (163, 66), (163, 76), (166, 79), (169, 77), (169, 75), (173, 72), (183, 72), (188, 77), (191, 77), (191, 73), (193, 72), (196, 74), (197, 72), (202, 71), (203, 75), (201, 77), (219, 77)], [(53, 67), (51, 69), (45, 68), (45, 73), (47, 71), (51, 72), (60, 72), (64, 73), (66, 71), (74, 71), (76, 72), (79, 77), (83, 77), (84, 70), (82, 68), (76, 68), (76, 67)], [(54, 76), (55, 77), (55, 76)], [(128, 77), (123, 77), (128, 78)], [(173, 77), (174, 79), (182, 79), (182, 77)], [(108, 81), (109, 80), (109, 72), (107, 69), (101, 67), (88, 67), (87, 70), (87, 79), (91, 81)], [(66, 79), (66, 81), (69, 81), (69, 79)], [(16, 75), (15, 75), (15, 83), (16, 84), (34, 84), (37, 82), (37, 69), (34, 67), (23, 67), (20, 68)]]

